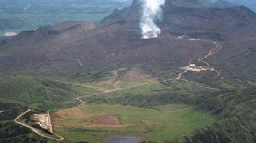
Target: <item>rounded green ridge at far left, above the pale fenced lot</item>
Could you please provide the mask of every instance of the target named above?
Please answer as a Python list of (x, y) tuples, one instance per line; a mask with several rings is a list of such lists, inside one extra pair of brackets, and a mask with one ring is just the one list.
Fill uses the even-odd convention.
[(75, 96), (76, 92), (69, 85), (51, 78), (25, 75), (0, 78), (1, 110), (5, 111), (27, 107), (43, 109), (70, 107), (75, 105), (73, 99)]

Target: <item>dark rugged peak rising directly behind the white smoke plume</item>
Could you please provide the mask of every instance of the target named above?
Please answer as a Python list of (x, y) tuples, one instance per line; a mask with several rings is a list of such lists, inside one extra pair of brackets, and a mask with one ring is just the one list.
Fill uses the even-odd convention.
[[(233, 8), (198, 8), (174, 5), (175, 1), (166, 1), (163, 6), (163, 19), (156, 21), (161, 28), (162, 36), (177, 36), (190, 34), (197, 38), (233, 39), (255, 34), (256, 15), (250, 9), (239, 6)], [(176, 3), (176, 2), (175, 2)], [(198, 3), (192, 1), (191, 3)], [(137, 4), (137, 5), (135, 5)], [(102, 20), (104, 25), (117, 23), (134, 25), (133, 30), (139, 29), (141, 11), (137, 10), (139, 2), (124, 10), (115, 10), (111, 16)], [(126, 28), (128, 28), (126, 27)], [(126, 29), (127, 30), (127, 29)]]

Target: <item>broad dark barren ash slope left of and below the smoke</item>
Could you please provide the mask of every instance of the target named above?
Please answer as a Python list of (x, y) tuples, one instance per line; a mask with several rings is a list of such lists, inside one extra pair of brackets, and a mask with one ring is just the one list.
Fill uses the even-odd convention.
[(84, 25), (56, 28), (62, 27), (58, 25), (21, 32), (1, 46), (6, 53), (1, 57), (1, 69), (3, 72), (70, 74), (77, 70), (110, 71), (148, 61), (172, 62), (170, 65), (178, 68), (205, 55), (214, 46), (205, 41), (131, 38), (126, 33), (127, 23), (89, 29), (91, 26)]

